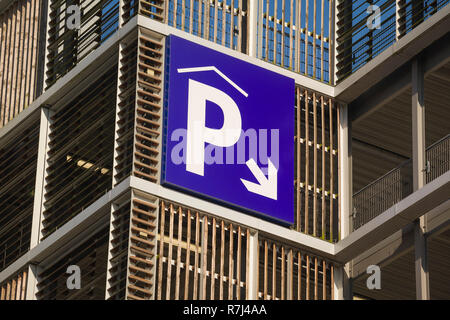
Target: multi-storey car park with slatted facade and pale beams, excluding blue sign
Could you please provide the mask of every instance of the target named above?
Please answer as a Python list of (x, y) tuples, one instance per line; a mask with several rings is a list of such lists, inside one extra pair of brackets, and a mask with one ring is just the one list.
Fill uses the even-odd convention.
[[(292, 225), (161, 184), (172, 35), (295, 80)], [(0, 110), (2, 300), (450, 298), (448, 0), (0, 0)]]

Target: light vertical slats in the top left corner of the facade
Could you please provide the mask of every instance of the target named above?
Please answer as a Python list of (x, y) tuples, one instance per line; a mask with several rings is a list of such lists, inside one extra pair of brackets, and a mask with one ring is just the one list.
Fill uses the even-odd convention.
[(41, 0), (19, 0), (0, 13), (0, 128), (41, 93), (42, 7)]

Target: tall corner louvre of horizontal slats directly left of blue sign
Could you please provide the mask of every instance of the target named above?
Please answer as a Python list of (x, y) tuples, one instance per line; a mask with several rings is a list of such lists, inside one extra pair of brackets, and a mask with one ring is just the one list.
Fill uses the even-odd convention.
[(164, 38), (141, 29), (121, 45), (115, 184), (159, 181), (163, 56)]

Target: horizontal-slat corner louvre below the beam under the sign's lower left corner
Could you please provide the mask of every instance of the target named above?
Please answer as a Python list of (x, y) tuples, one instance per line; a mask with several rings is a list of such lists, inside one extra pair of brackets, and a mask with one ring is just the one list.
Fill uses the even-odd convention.
[(134, 190), (113, 204), (107, 299), (154, 299), (157, 212), (155, 197)]

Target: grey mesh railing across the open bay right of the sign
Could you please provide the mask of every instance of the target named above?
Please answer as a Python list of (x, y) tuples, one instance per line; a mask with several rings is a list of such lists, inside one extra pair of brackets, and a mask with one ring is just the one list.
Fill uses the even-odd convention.
[[(426, 183), (450, 170), (450, 134), (426, 150)], [(352, 229), (356, 230), (413, 191), (411, 159), (353, 195)]]

